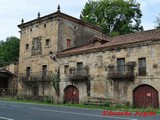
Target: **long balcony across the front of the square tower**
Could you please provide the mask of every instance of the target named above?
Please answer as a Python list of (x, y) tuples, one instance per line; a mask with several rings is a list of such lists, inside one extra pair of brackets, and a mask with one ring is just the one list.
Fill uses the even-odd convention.
[(19, 73), (19, 80), (23, 82), (49, 82), (52, 81), (53, 72), (47, 71), (45, 74), (42, 71), (31, 72), (30, 75), (26, 73)]

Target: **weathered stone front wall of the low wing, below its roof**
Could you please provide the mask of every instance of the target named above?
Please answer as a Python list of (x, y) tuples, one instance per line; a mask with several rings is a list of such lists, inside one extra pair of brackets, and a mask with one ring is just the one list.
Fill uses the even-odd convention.
[[(133, 102), (133, 90), (142, 84), (151, 85), (154, 87), (160, 96), (160, 42), (146, 44), (137, 44), (130, 47), (106, 50), (103, 52), (95, 52), (90, 54), (74, 55), (69, 57), (59, 58), (61, 69), (61, 95), (63, 99), (64, 89), (71, 82), (64, 74), (64, 65), (75, 67), (77, 62), (83, 62), (84, 66), (89, 68), (89, 79), (91, 81), (91, 96), (114, 98), (120, 102)], [(117, 65), (117, 58), (125, 58), (125, 63), (134, 61), (135, 79), (117, 79), (113, 80), (108, 77), (108, 66)], [(138, 75), (138, 58), (146, 58), (146, 76)], [(81, 91), (84, 87), (76, 85)], [(81, 101), (86, 99), (86, 90), (80, 94)]]

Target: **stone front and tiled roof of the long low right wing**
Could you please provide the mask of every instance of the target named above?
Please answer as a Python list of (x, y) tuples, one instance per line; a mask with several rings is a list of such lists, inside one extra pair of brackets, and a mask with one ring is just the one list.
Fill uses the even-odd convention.
[[(133, 92), (135, 88), (141, 85), (149, 85), (158, 91), (158, 96), (160, 96), (160, 84), (159, 84), (159, 55), (160, 55), (160, 39), (159, 35), (151, 36), (151, 39), (141, 40), (143, 34), (147, 35), (154, 33), (159, 33), (159, 29), (146, 31), (142, 33), (128, 34), (120, 36), (121, 44), (115, 42), (119, 37), (111, 39), (111, 42), (105, 44), (96, 45), (97, 41), (88, 45), (88, 47), (80, 47), (72, 50), (66, 50), (59, 53), (59, 63), (61, 70), (61, 95), (63, 96), (65, 92), (63, 91), (66, 86), (74, 85), (79, 90), (80, 102), (85, 102), (88, 97), (102, 97), (107, 99), (114, 99), (119, 103), (130, 102), (133, 103)], [(133, 41), (128, 42), (131, 37), (139, 36), (139, 38), (132, 38)], [(128, 40), (127, 40), (128, 39)], [(124, 40), (124, 41), (123, 41)], [(136, 41), (137, 40), (137, 41)], [(136, 42), (135, 42), (136, 41)], [(95, 44), (96, 43), (96, 44)], [(118, 60), (124, 59), (124, 65), (133, 64), (133, 77), (127, 76), (122, 77), (116, 76), (116, 70), (114, 74), (109, 76), (111, 71), (110, 66), (118, 66)], [(140, 75), (140, 60), (145, 60), (145, 73)], [(65, 66), (68, 65), (69, 69), (77, 68), (77, 63), (83, 63), (83, 67), (87, 67), (89, 71), (88, 80), (90, 81), (90, 95), (87, 95), (87, 85), (86, 81), (79, 80), (73, 82), (67, 77), (65, 73)], [(124, 68), (122, 68), (124, 69)], [(128, 68), (127, 68), (128, 69)], [(128, 72), (128, 71), (125, 71)], [(129, 73), (130, 74), (130, 73)], [(114, 76), (115, 75), (115, 76)], [(127, 75), (127, 74), (126, 74)], [(78, 79), (78, 77), (77, 77)], [(148, 93), (149, 94), (149, 93)], [(159, 103), (160, 101), (158, 101)]]

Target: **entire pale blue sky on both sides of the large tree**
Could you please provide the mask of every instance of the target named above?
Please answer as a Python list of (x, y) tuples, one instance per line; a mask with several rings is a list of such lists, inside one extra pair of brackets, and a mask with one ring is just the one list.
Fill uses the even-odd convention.
[[(85, 3), (88, 0), (0, 0), (0, 40), (16, 36), (20, 38), (17, 27), (21, 23), (57, 11), (60, 4), (61, 12), (79, 18)], [(142, 10), (141, 25), (144, 30), (154, 29), (156, 16), (160, 14), (160, 0), (137, 0)]]

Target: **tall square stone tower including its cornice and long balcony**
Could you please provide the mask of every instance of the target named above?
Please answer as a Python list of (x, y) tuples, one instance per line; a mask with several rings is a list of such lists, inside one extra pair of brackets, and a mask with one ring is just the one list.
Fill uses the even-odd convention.
[(94, 35), (103, 35), (100, 28), (60, 11), (22, 21), (18, 27), (21, 29), (19, 95), (56, 96), (52, 76), (59, 67), (57, 52), (85, 45)]

